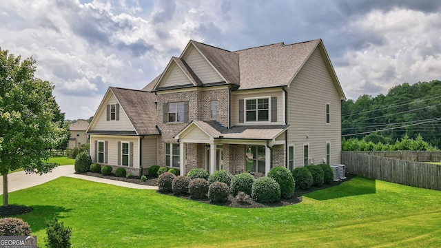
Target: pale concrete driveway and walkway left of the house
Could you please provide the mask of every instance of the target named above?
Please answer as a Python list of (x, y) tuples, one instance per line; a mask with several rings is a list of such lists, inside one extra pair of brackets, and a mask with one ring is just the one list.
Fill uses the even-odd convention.
[[(90, 180), (97, 183), (107, 183), (110, 185), (128, 187), (132, 189), (158, 189), (156, 186), (139, 185), (136, 183), (122, 182), (119, 180), (110, 180), (105, 178), (97, 178), (94, 176), (75, 174), (74, 165), (62, 165), (52, 169), (52, 172), (43, 174), (41, 176), (39, 174), (26, 174), (26, 172), (14, 172), (8, 174), (8, 192), (14, 192), (20, 189), (41, 185), (42, 183), (49, 182), (50, 180), (54, 180), (60, 176)], [(3, 176), (0, 176), (0, 194), (3, 194)]]

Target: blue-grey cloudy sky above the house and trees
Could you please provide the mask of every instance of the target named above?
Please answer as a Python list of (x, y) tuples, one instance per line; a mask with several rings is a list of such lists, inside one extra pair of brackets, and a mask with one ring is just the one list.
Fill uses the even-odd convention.
[(109, 86), (141, 89), (189, 39), (225, 50), (321, 38), (345, 94), (441, 79), (441, 1), (14, 0), (0, 48), (37, 61), (66, 118), (89, 118)]

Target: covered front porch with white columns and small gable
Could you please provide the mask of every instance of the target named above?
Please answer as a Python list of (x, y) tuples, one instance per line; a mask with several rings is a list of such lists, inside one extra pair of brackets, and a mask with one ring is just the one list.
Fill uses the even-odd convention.
[(194, 167), (212, 174), (225, 169), (232, 174), (250, 172), (265, 176), (272, 166), (285, 166), (287, 126), (232, 127), (193, 121), (176, 140), (180, 143), (180, 170), (184, 175)]

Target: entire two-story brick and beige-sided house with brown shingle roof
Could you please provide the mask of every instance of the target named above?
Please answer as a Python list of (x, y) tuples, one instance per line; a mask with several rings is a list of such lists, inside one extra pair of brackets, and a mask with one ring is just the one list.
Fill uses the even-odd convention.
[(266, 175), (340, 163), (344, 99), (321, 39), (236, 52), (189, 41), (142, 90), (110, 87), (86, 134), (95, 163), (133, 175), (152, 165)]

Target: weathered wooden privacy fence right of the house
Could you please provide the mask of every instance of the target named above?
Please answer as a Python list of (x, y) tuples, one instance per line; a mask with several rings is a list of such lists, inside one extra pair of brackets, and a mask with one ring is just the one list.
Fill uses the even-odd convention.
[(342, 152), (342, 164), (346, 165), (347, 172), (358, 176), (441, 190), (441, 165), (386, 158), (367, 152)]

